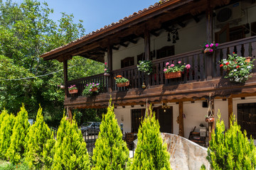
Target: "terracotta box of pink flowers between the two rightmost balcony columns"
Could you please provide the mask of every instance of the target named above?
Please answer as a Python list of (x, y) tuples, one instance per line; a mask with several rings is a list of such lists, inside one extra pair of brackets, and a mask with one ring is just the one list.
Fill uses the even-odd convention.
[(166, 62), (166, 67), (164, 67), (164, 77), (166, 79), (181, 77), (185, 68), (190, 69), (191, 65), (186, 63), (181, 64), (181, 61), (178, 61), (177, 64)]

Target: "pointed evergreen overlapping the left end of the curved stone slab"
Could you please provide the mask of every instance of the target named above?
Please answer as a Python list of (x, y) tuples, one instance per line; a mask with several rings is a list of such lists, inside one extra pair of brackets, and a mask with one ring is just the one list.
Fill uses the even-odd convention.
[(166, 144), (163, 145), (159, 129), (159, 122), (150, 106), (149, 113), (146, 109), (145, 118), (139, 127), (138, 144), (131, 169), (171, 169), (170, 154)]

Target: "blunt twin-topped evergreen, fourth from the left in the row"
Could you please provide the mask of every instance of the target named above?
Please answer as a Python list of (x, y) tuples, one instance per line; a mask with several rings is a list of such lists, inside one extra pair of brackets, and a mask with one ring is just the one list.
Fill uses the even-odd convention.
[(86, 143), (74, 119), (72, 123), (66, 117), (61, 120), (54, 152), (52, 169), (90, 169)]

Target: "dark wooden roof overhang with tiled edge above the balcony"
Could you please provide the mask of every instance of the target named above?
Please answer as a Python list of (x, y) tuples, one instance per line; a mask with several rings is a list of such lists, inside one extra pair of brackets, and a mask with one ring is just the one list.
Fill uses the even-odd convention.
[[(215, 0), (210, 1), (210, 6), (223, 6), (228, 4), (230, 0)], [(206, 0), (170, 0), (164, 4), (148, 8), (142, 13), (137, 13), (132, 17), (123, 19), (118, 23), (112, 23), (108, 28), (102, 28), (97, 32), (92, 32), (90, 35), (70, 42), (68, 45), (58, 47), (55, 50), (46, 52), (41, 55), (43, 60), (70, 60), (75, 55), (87, 57), (86, 52), (96, 48), (105, 48), (107, 44), (118, 43), (120, 38), (128, 37), (129, 35), (140, 35), (144, 33), (144, 29), (156, 30), (161, 28), (161, 23), (173, 20), (180, 16), (190, 13), (196, 16), (199, 13), (206, 11)], [(95, 56), (92, 60), (102, 62), (102, 57)], [(103, 59), (104, 60), (104, 59)]]

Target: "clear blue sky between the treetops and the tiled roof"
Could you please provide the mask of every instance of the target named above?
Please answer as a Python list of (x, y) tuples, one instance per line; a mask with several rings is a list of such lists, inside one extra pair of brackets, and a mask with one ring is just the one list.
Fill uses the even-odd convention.
[[(22, 0), (13, 0), (21, 3)], [(38, 0), (43, 2), (43, 0)], [(50, 16), (54, 21), (61, 17), (60, 12), (73, 13), (75, 23), (84, 21), (85, 33), (100, 29), (105, 25), (119, 21), (130, 14), (148, 8), (156, 0), (44, 0), (54, 14)]]

